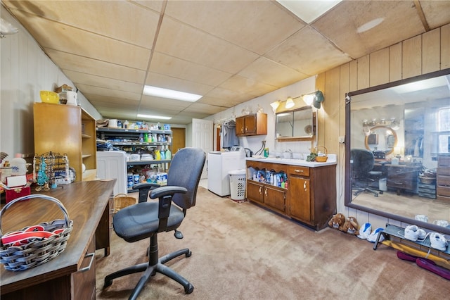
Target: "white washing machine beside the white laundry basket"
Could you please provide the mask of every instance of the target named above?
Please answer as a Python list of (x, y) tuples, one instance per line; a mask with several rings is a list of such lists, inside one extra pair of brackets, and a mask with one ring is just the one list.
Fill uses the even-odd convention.
[(219, 196), (230, 194), (229, 171), (245, 169), (245, 151), (232, 147), (230, 151), (208, 153), (208, 189)]

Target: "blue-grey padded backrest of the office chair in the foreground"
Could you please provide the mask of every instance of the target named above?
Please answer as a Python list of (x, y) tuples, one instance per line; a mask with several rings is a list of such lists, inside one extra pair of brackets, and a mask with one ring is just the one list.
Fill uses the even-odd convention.
[(172, 201), (184, 210), (195, 206), (198, 183), (206, 154), (200, 148), (183, 148), (176, 152), (167, 173), (167, 185), (186, 187), (186, 194), (175, 194)]

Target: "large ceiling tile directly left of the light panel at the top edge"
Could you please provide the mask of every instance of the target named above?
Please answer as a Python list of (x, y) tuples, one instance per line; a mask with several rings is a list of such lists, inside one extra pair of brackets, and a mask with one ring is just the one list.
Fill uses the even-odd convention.
[(304, 26), (272, 1), (168, 1), (165, 13), (259, 55)]

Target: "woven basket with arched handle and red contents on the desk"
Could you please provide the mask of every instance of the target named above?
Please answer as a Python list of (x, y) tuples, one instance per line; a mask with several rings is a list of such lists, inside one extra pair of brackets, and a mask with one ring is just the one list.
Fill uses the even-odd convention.
[[(58, 205), (63, 211), (64, 220), (39, 223), (4, 235), (1, 232), (1, 217), (4, 212), (18, 201), (34, 198), (49, 200)], [(27, 270), (46, 263), (64, 251), (72, 228), (73, 221), (69, 219), (67, 210), (58, 199), (41, 194), (14, 199), (0, 212), (0, 263), (9, 271)]]

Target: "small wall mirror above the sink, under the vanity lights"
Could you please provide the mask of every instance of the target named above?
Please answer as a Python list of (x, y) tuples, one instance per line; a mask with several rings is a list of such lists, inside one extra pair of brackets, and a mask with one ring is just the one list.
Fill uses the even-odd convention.
[(316, 113), (311, 106), (276, 113), (276, 139), (310, 140), (316, 135)]

